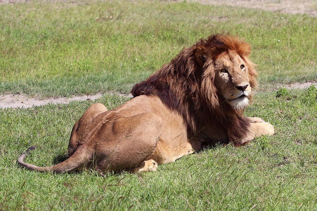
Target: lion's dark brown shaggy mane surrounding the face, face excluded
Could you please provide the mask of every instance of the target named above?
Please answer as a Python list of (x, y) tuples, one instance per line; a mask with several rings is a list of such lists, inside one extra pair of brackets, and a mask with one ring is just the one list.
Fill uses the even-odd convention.
[(247, 58), (249, 45), (228, 34), (215, 34), (184, 48), (170, 63), (136, 84), (131, 93), (133, 97), (158, 96), (169, 109), (183, 116), (188, 134), (197, 134), (207, 124), (216, 124), (228, 134), (228, 141), (237, 141), (247, 133), (249, 121), (243, 117), (243, 111), (232, 109), (218, 96), (215, 77), (205, 74), (217, 56), (228, 50), (235, 51), (245, 61), (254, 89), (256, 71)]

